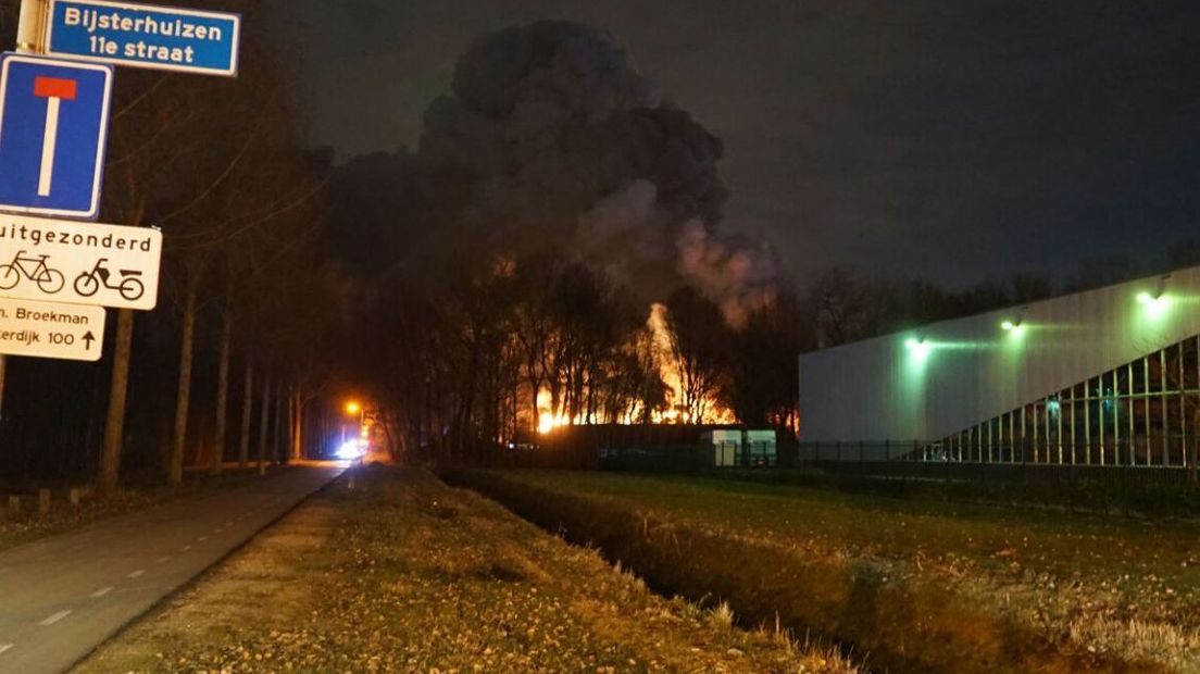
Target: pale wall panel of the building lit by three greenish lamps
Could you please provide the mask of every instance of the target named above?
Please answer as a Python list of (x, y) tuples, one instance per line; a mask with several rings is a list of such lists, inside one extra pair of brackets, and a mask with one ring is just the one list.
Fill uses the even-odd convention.
[(802, 441), (937, 441), (1010, 422), (1198, 335), (1200, 267), (1189, 267), (804, 354)]

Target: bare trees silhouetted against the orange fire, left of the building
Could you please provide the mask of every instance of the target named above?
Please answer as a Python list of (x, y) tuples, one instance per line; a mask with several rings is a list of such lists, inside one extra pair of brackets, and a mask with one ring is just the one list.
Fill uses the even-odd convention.
[(793, 300), (736, 330), (690, 288), (652, 313), (605, 272), (564, 255), (462, 269), (392, 278), (356, 321), (362, 375), (409, 453), (478, 457), (527, 441), (546, 417), (700, 423), (732, 407), (748, 423), (794, 421)]

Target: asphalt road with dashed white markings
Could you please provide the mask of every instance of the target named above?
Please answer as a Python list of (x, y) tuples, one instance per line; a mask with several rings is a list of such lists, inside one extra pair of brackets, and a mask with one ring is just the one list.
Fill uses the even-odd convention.
[(68, 669), (341, 470), (294, 468), (0, 553), (0, 674)]

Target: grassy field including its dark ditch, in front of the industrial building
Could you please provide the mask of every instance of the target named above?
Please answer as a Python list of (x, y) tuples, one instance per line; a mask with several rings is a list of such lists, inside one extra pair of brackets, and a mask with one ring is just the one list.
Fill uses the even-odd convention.
[(1198, 672), (1200, 525), (716, 480), (452, 476), (664, 589), (893, 672)]

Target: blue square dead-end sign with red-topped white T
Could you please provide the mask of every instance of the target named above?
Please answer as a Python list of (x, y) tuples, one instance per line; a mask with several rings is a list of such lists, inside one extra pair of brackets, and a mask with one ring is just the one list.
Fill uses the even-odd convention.
[(0, 54), (0, 211), (100, 215), (113, 68)]

